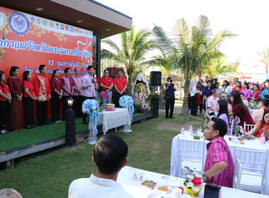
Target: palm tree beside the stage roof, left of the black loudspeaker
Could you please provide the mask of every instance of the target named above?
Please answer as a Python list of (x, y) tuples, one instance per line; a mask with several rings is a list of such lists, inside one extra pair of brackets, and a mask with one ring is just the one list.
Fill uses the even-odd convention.
[(120, 33), (119, 46), (113, 40), (102, 40), (111, 47), (112, 51), (101, 50), (101, 59), (114, 59), (125, 64), (129, 85), (132, 83), (135, 69), (142, 69), (146, 64), (145, 55), (154, 49), (154, 41), (149, 39), (149, 35), (151, 32), (143, 28), (135, 33), (135, 25), (133, 25), (132, 30)]

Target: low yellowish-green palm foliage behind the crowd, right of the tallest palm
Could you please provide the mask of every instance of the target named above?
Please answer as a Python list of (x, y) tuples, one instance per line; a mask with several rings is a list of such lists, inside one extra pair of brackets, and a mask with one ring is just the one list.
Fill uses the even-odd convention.
[(236, 70), (239, 64), (239, 61), (228, 64), (223, 58), (214, 59), (212, 65), (207, 66), (207, 68), (205, 69), (205, 74), (207, 74), (207, 76), (216, 78), (218, 75), (237, 74)]

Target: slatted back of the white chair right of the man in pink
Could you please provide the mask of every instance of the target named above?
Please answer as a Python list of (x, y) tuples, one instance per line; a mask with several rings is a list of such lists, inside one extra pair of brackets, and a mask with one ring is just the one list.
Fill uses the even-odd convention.
[(246, 175), (260, 175), (262, 177), (261, 187), (265, 177), (268, 149), (265, 151), (250, 151), (244, 148), (234, 148), (234, 158), (239, 159), (242, 166), (242, 173)]

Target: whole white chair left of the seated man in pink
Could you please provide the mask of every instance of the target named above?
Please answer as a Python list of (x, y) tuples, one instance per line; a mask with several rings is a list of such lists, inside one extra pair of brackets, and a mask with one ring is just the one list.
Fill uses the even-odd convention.
[(178, 136), (179, 148), (179, 172), (178, 177), (185, 177), (188, 174), (187, 168), (197, 173), (202, 173), (205, 163), (205, 139), (203, 141), (190, 141), (180, 139)]

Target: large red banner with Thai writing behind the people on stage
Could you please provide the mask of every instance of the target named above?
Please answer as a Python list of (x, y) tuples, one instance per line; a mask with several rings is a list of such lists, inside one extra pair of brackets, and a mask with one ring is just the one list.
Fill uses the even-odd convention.
[[(58, 69), (81, 69), (93, 64), (93, 32), (0, 6), (0, 70), (9, 76), (11, 66), (32, 73), (32, 81), (45, 64), (47, 77)], [(7, 79), (7, 78), (6, 78)], [(49, 115), (50, 115), (50, 107)]]

